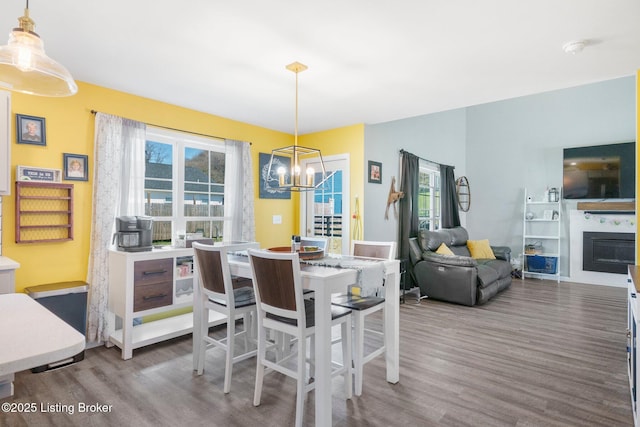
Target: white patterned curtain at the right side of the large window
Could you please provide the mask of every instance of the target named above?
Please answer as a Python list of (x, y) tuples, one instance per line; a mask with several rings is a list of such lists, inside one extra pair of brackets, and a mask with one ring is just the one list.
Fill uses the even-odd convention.
[[(256, 240), (253, 211), (253, 167), (251, 146), (247, 142), (225, 140), (224, 240)], [(236, 185), (229, 185), (234, 183)]]

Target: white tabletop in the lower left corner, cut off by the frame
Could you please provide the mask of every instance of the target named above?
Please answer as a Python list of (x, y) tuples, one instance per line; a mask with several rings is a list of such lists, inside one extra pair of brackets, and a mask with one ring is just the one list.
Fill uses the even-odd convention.
[[(26, 294), (0, 295), (0, 325), (0, 377), (67, 359), (85, 347), (84, 335)], [(0, 398), (13, 394), (8, 388)]]

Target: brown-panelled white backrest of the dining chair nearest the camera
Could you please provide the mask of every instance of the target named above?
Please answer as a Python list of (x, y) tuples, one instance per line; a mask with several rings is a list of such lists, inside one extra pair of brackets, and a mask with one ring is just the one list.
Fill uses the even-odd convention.
[(253, 289), (260, 311), (295, 319), (306, 327), (300, 259), (297, 253), (249, 249)]

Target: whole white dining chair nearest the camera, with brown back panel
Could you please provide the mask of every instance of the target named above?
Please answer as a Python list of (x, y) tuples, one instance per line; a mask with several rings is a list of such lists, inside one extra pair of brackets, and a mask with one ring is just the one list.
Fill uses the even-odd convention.
[[(258, 356), (256, 368), (256, 385), (253, 398), (255, 406), (260, 405), (264, 375), (277, 371), (297, 381), (296, 391), (296, 426), (302, 426), (304, 398), (306, 393), (315, 388), (315, 382), (307, 378), (307, 362), (313, 363), (313, 345), (311, 359), (307, 360), (307, 338), (314, 339), (315, 311), (314, 302), (302, 295), (302, 278), (300, 276), (300, 259), (297, 253), (267, 252), (250, 249), (249, 262), (253, 275), (258, 311)], [(341, 325), (342, 360), (332, 362), (332, 376), (344, 377), (347, 399), (352, 396), (351, 382), (351, 310), (331, 308), (332, 327)], [(267, 356), (267, 331), (275, 330), (291, 335), (297, 342), (297, 351), (292, 351), (283, 358)], [(294, 358), (297, 360), (295, 370), (289, 366)], [(265, 371), (265, 368), (268, 371)], [(310, 369), (313, 372), (313, 369)]]

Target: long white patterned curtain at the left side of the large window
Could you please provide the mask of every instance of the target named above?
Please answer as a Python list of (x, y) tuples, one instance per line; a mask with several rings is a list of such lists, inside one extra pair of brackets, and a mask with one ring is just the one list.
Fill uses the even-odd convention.
[(89, 342), (109, 339), (109, 247), (114, 219), (144, 214), (144, 123), (97, 113), (89, 246)]

